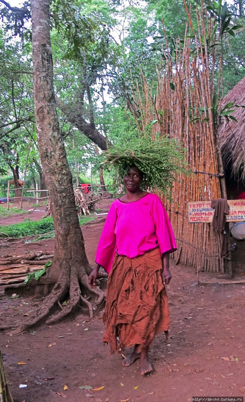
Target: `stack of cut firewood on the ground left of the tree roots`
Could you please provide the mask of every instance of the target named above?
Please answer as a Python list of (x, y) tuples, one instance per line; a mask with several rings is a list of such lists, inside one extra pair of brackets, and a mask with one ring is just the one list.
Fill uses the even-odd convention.
[(27, 274), (43, 269), (54, 257), (53, 253), (29, 252), (4, 254), (0, 257), (0, 285), (24, 282)]

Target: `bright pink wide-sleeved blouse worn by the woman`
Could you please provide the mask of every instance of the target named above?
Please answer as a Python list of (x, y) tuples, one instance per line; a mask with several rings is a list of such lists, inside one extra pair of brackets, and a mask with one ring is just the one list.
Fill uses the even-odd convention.
[(109, 272), (115, 252), (135, 258), (159, 247), (177, 250), (173, 230), (160, 198), (151, 193), (137, 201), (113, 201), (99, 240), (95, 261)]

